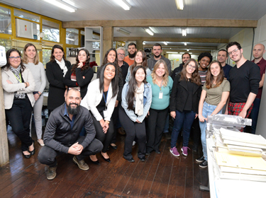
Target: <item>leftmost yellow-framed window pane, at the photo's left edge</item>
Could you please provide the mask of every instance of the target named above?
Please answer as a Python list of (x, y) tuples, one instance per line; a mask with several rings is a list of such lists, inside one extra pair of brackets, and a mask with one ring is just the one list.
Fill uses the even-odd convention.
[(12, 34), (11, 28), (11, 11), (8, 8), (0, 6), (0, 33)]

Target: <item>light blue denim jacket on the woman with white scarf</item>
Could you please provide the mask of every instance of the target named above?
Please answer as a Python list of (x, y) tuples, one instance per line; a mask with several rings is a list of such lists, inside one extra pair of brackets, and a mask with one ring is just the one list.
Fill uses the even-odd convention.
[[(148, 111), (150, 110), (150, 105), (152, 103), (152, 86), (150, 86), (150, 83), (144, 84), (144, 93), (143, 93), (143, 115), (137, 116), (135, 115), (135, 112), (133, 110), (128, 110), (128, 101), (126, 100), (126, 95), (128, 95), (128, 83), (126, 83), (123, 86), (122, 91), (122, 107), (126, 112), (126, 115), (135, 122), (136, 120), (143, 122), (145, 116), (148, 114)], [(135, 101), (134, 101), (135, 105)]]

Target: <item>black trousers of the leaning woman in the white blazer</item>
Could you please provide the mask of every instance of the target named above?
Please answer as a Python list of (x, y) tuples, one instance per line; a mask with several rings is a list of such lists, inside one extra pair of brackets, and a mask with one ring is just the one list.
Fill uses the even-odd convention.
[[(92, 112), (91, 112), (92, 113)], [(101, 117), (104, 117), (104, 113), (100, 112)], [(109, 129), (106, 134), (103, 132), (103, 127), (101, 127), (101, 124), (99, 121), (96, 120), (96, 118), (92, 114), (92, 120), (94, 121), (94, 127), (96, 130), (96, 139), (99, 139), (102, 144), (104, 144), (104, 148), (101, 152), (106, 153), (108, 146), (111, 144), (111, 141), (113, 139), (113, 120), (110, 120), (109, 123)]]

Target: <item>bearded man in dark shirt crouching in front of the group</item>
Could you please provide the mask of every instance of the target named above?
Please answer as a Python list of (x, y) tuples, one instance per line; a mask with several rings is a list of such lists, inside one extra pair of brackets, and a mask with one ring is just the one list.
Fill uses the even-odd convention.
[[(38, 160), (49, 166), (46, 176), (53, 180), (56, 176), (56, 156), (61, 153), (74, 155), (73, 161), (81, 170), (89, 170), (85, 163), (86, 156), (99, 153), (103, 144), (95, 137), (94, 123), (89, 111), (80, 106), (80, 93), (73, 88), (67, 92), (65, 103), (50, 114), (43, 140), (45, 146), (40, 149)], [(85, 128), (86, 135), (79, 136)]]

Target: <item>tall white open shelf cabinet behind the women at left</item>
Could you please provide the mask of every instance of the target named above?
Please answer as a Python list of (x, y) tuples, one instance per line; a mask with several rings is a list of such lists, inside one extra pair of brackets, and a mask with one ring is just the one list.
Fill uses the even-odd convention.
[[(94, 35), (93, 32), (99, 35)], [(85, 27), (85, 49), (89, 50), (90, 62), (94, 62), (99, 58), (99, 66), (101, 66), (103, 57), (103, 27)]]

